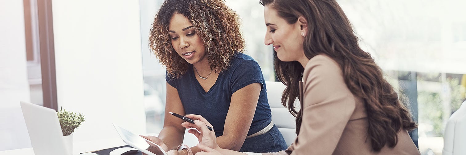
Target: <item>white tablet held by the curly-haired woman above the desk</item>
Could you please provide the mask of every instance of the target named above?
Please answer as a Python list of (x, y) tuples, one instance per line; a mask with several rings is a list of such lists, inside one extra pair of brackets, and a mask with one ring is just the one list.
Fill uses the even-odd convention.
[[(117, 129), (118, 135), (120, 135), (123, 142), (130, 145), (131, 147), (134, 147), (140, 150), (141, 152), (144, 152), (147, 155), (156, 155), (155, 153), (152, 153), (151, 151), (148, 150), (149, 147), (151, 147), (152, 145), (151, 150), (158, 149), (159, 152), (163, 153), (162, 155), (167, 155), (167, 153), (164, 151), (164, 149), (161, 146), (151, 141), (148, 141), (139, 135), (133, 134), (132, 132), (124, 128), (121, 128), (115, 124), (113, 124), (113, 126), (115, 127), (115, 129)], [(149, 143), (151, 143), (151, 145), (149, 145)]]

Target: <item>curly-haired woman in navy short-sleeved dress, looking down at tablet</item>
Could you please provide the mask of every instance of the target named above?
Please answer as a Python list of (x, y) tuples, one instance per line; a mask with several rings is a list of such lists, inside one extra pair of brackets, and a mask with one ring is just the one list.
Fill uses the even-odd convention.
[(146, 139), (165, 150), (177, 148), (185, 128), (180, 125), (183, 120), (169, 114), (173, 112), (203, 115), (223, 148), (286, 149), (271, 119), (259, 64), (242, 53), (238, 15), (223, 0), (165, 0), (149, 37), (151, 49), (167, 68), (167, 97), (164, 128), (158, 137)]

